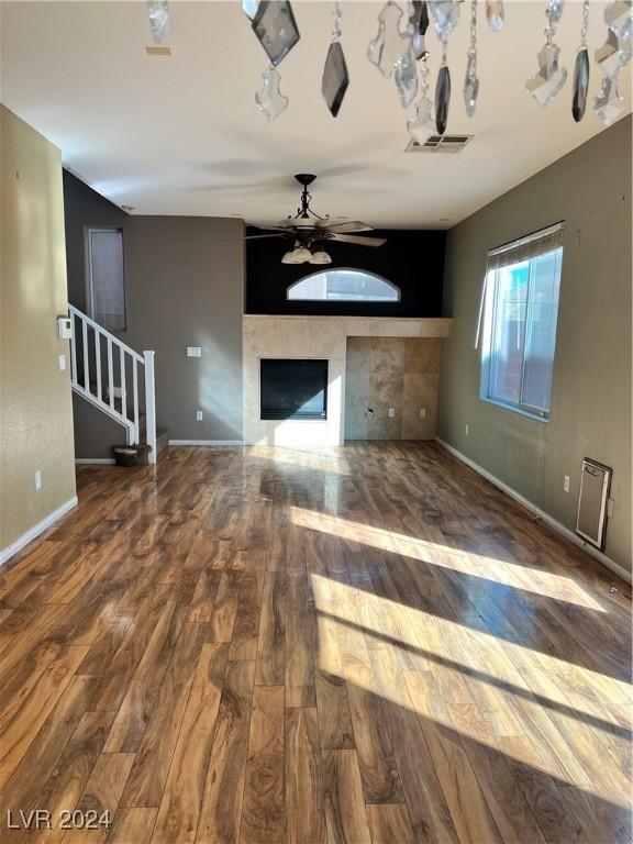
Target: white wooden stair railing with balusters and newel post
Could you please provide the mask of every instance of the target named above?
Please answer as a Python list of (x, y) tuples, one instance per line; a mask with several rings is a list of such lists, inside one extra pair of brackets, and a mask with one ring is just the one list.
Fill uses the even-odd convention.
[[(144, 368), (145, 440), (151, 446), (149, 463), (156, 463), (154, 352), (143, 352), (140, 355), (71, 304), (68, 306), (68, 315), (73, 326), (70, 338), (73, 390), (123, 425), (127, 445), (137, 445), (141, 442), (142, 406), (138, 397), (138, 367)], [(102, 363), (102, 352), (106, 353), (106, 365)], [(127, 395), (129, 375), (132, 378), (130, 396)]]

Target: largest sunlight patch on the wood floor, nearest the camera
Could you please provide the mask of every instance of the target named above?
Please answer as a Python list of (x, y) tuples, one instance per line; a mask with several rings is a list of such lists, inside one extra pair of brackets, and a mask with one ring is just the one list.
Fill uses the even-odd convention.
[[(512, 746), (522, 763), (601, 798), (617, 801), (629, 787), (613, 766), (612, 790), (592, 790), (591, 764), (604, 753), (625, 758), (630, 746), (603, 710), (591, 712), (588, 689), (579, 689), (585, 709), (562, 692), (554, 678), (563, 660), (321, 575), (311, 584), (321, 670), (499, 753)], [(422, 682), (415, 675), (432, 678), (432, 695), (411, 691)]]

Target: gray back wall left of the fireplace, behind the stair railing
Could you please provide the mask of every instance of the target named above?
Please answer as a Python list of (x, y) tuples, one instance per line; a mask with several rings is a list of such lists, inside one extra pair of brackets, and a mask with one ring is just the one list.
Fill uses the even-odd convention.
[[(241, 440), (242, 221), (130, 216), (69, 175), (65, 203), (69, 299), (78, 308), (85, 226), (123, 227), (127, 327), (119, 336), (156, 352), (159, 427), (174, 440)], [(187, 346), (202, 346), (202, 357), (187, 358)], [(75, 397), (78, 457), (108, 457), (121, 442), (123, 430), (101, 415)]]

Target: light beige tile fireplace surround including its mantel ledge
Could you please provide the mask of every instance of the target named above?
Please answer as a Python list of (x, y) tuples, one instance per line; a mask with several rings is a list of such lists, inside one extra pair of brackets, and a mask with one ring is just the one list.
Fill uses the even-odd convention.
[[(347, 337), (447, 337), (451, 323), (446, 319), (245, 314), (244, 442), (290, 447), (343, 445)], [(293, 357), (327, 359), (327, 419), (259, 419), (259, 360)]]

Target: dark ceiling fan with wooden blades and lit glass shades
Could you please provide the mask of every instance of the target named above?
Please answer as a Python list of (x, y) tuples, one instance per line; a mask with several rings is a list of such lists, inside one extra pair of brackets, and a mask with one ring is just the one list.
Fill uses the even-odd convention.
[(354, 243), (358, 246), (382, 246), (384, 237), (359, 236), (356, 232), (370, 232), (371, 226), (358, 220), (345, 223), (331, 223), (330, 214), (321, 216), (310, 208), (312, 196), (308, 187), (316, 176), (311, 173), (299, 173), (295, 176), (301, 191), (301, 206), (295, 215), (289, 215), (279, 225), (254, 226), (271, 234), (249, 234), (244, 240), (254, 241), (263, 237), (286, 237), (293, 242), (293, 247), (281, 258), (282, 264), (331, 264), (332, 258), (323, 249), (327, 241)]

